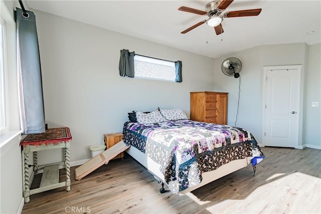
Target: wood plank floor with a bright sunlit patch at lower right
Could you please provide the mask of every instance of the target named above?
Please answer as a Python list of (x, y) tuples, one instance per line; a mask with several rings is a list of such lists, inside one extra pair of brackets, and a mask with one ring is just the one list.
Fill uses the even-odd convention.
[[(249, 165), (190, 193), (161, 185), (130, 156), (78, 181), (30, 196), (22, 213), (321, 213), (321, 151), (262, 148), (255, 177)], [(64, 169), (60, 180), (65, 180)], [(32, 188), (40, 183), (37, 175)]]

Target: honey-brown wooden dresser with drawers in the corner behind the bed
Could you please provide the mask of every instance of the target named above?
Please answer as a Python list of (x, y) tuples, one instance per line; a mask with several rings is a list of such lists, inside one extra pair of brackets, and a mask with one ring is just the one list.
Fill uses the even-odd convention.
[(213, 91), (191, 92), (191, 120), (226, 125), (227, 94)]

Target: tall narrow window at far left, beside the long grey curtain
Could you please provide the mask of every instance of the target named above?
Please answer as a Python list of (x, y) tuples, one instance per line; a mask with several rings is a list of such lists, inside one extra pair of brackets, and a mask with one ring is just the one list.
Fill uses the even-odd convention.
[(6, 70), (6, 32), (5, 22), (0, 19), (0, 133), (8, 131), (8, 99)]

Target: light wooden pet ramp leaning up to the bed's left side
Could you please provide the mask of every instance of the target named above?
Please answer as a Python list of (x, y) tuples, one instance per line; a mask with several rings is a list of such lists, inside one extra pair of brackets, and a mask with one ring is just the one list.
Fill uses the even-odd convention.
[(80, 180), (81, 178), (85, 177), (95, 169), (99, 168), (103, 164), (107, 164), (109, 160), (116, 157), (119, 153), (128, 149), (130, 145), (126, 145), (123, 141), (116, 143), (109, 149), (105, 150), (104, 152), (100, 153), (96, 157), (90, 159), (83, 165), (77, 167), (75, 169), (75, 179)]

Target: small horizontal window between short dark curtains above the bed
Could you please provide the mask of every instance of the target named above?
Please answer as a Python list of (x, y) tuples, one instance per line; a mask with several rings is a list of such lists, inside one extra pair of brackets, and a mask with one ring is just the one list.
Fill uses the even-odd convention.
[(175, 62), (145, 57), (134, 56), (135, 78), (158, 79), (175, 82)]

